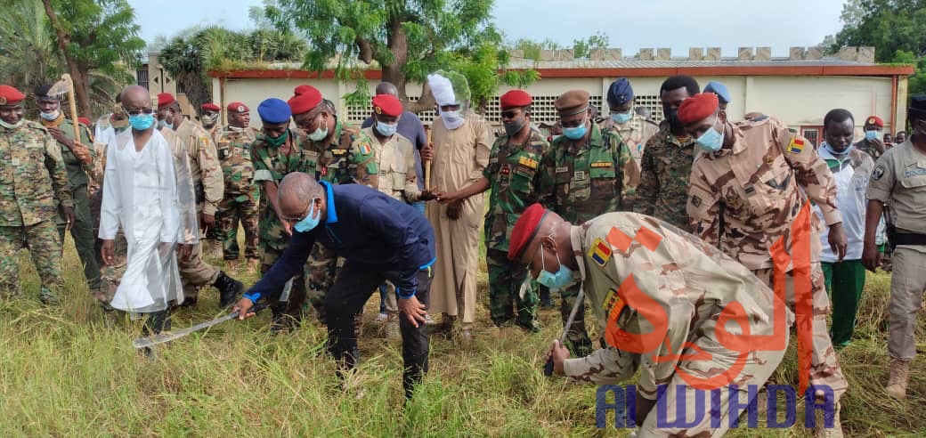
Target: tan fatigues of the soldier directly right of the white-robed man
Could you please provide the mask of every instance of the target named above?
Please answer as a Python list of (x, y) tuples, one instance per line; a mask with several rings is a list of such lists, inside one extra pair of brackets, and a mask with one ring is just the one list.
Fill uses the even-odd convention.
[[(224, 184), (222, 170), (216, 145), (212, 143), (203, 125), (186, 120), (174, 131), (190, 156), (190, 173), (193, 176), (196, 195), (196, 213), (213, 215), (219, 210)], [(198, 224), (196, 225), (198, 228)], [(188, 259), (178, 259), (181, 281), (183, 282), (183, 299), (195, 303), (199, 298), (199, 288), (212, 284), (219, 279), (218, 268), (203, 261), (203, 244), (193, 246), (193, 255)]]

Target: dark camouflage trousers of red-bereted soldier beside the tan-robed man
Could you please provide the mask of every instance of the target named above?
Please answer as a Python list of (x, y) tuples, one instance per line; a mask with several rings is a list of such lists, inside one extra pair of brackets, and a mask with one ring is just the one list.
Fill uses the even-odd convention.
[(537, 288), (531, 284), (524, 296), (520, 296), (527, 269), (510, 262), (507, 252), (496, 249), (485, 251), (485, 263), (489, 269), (489, 316), (492, 322), (501, 327), (515, 319), (517, 310), (516, 324), (528, 330), (538, 330), (540, 327), (535, 317), (540, 298)]

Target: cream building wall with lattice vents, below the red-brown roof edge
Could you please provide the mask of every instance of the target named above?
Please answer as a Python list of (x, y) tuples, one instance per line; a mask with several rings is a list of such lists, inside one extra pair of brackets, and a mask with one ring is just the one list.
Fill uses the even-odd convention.
[[(553, 102), (559, 94), (567, 90), (583, 89), (592, 95), (592, 104), (598, 108), (602, 117), (607, 117), (605, 103), (607, 87), (617, 78), (551, 78), (534, 82), (525, 90), (534, 97), (534, 120), (537, 122), (554, 122), (557, 119)], [(795, 130), (801, 127), (820, 126), (826, 112), (835, 107), (844, 107), (856, 116), (860, 128), (864, 119), (872, 114), (881, 116), (890, 124), (892, 80), (890, 77), (865, 76), (718, 76), (695, 78), (703, 87), (707, 81), (721, 81), (730, 91), (732, 102), (727, 107), (731, 119), (743, 119), (749, 112), (759, 111), (782, 119)], [(659, 104), (659, 87), (665, 78), (632, 78), (637, 105), (650, 107), (655, 119), (662, 119), (662, 106)], [(339, 84), (334, 80), (288, 80), (288, 79), (246, 79), (227, 80), (224, 102), (242, 101), (256, 111), (257, 104), (268, 97), (283, 100), (293, 95), (293, 89), (300, 83), (307, 83), (319, 88), (319, 91), (339, 106), (339, 114), (354, 123), (367, 118), (369, 106), (347, 107), (341, 99), (345, 93), (352, 91), (353, 85)], [(213, 96), (219, 100), (219, 80), (213, 79)], [(373, 93), (376, 81), (369, 81), (369, 93)], [(498, 94), (504, 94), (510, 88), (501, 87)], [(420, 93), (419, 83), (408, 83), (407, 91), (411, 98)], [(906, 111), (906, 81), (899, 88), (898, 124), (903, 123)], [(257, 116), (257, 115), (255, 115)], [(426, 123), (433, 119), (433, 112), (420, 114)], [(486, 107), (487, 119), (497, 123), (500, 117), (497, 96)], [(258, 127), (260, 119), (252, 117), (251, 123)], [(895, 127), (885, 127), (897, 131)]]

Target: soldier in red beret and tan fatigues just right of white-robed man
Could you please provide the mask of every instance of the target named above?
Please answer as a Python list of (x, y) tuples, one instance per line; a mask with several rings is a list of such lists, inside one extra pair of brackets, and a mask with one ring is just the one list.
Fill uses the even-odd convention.
[[(200, 221), (198, 227), (208, 232), (216, 225), (215, 214), (224, 192), (216, 145), (201, 125), (187, 122), (180, 103), (172, 94), (157, 94), (157, 113), (174, 131), (183, 150), (190, 156), (190, 174), (193, 176), (196, 212)], [(241, 282), (203, 261), (201, 242), (193, 245), (190, 257), (179, 257), (177, 265), (183, 282), (183, 306), (194, 306), (199, 299), (199, 289), (206, 285), (219, 289), (219, 307), (234, 304), (244, 289)]]

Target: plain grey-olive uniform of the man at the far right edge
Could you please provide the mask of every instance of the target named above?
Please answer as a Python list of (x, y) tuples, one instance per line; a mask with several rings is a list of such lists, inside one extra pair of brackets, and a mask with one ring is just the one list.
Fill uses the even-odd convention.
[(910, 139), (888, 149), (875, 163), (866, 197), (891, 206), (896, 247), (887, 352), (907, 362), (917, 353), (917, 312), (926, 291), (926, 155)]

